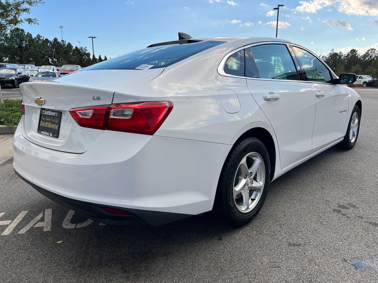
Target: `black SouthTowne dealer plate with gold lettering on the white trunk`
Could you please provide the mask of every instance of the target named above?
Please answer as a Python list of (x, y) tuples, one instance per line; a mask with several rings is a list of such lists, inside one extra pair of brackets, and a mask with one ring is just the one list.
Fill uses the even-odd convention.
[(59, 137), (61, 118), (62, 112), (41, 109), (37, 132), (48, 137)]

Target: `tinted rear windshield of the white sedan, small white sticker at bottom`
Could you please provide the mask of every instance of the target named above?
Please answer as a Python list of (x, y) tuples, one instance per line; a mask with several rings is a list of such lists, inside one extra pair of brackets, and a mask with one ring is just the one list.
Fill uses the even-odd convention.
[(141, 65), (152, 65), (147, 69), (163, 68), (222, 43), (202, 41), (149, 47), (103, 61), (85, 70), (133, 70)]

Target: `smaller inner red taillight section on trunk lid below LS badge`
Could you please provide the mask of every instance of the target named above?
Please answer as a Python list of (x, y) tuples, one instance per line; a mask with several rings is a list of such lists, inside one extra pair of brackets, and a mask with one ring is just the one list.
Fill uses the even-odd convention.
[(70, 113), (76, 122), (86, 128), (105, 130), (104, 118), (109, 105), (71, 109)]

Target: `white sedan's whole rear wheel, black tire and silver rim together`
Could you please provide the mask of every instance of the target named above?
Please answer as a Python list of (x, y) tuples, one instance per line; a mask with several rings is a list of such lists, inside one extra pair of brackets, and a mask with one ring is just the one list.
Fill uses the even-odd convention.
[(259, 213), (270, 182), (270, 160), (258, 138), (241, 137), (231, 149), (218, 181), (213, 214), (232, 226), (249, 223)]

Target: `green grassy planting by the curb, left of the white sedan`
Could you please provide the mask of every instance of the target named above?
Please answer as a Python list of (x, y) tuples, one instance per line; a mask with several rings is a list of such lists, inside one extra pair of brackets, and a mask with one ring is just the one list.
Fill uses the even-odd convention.
[(21, 100), (5, 99), (0, 104), (0, 125), (7, 125), (15, 130), (22, 117)]

